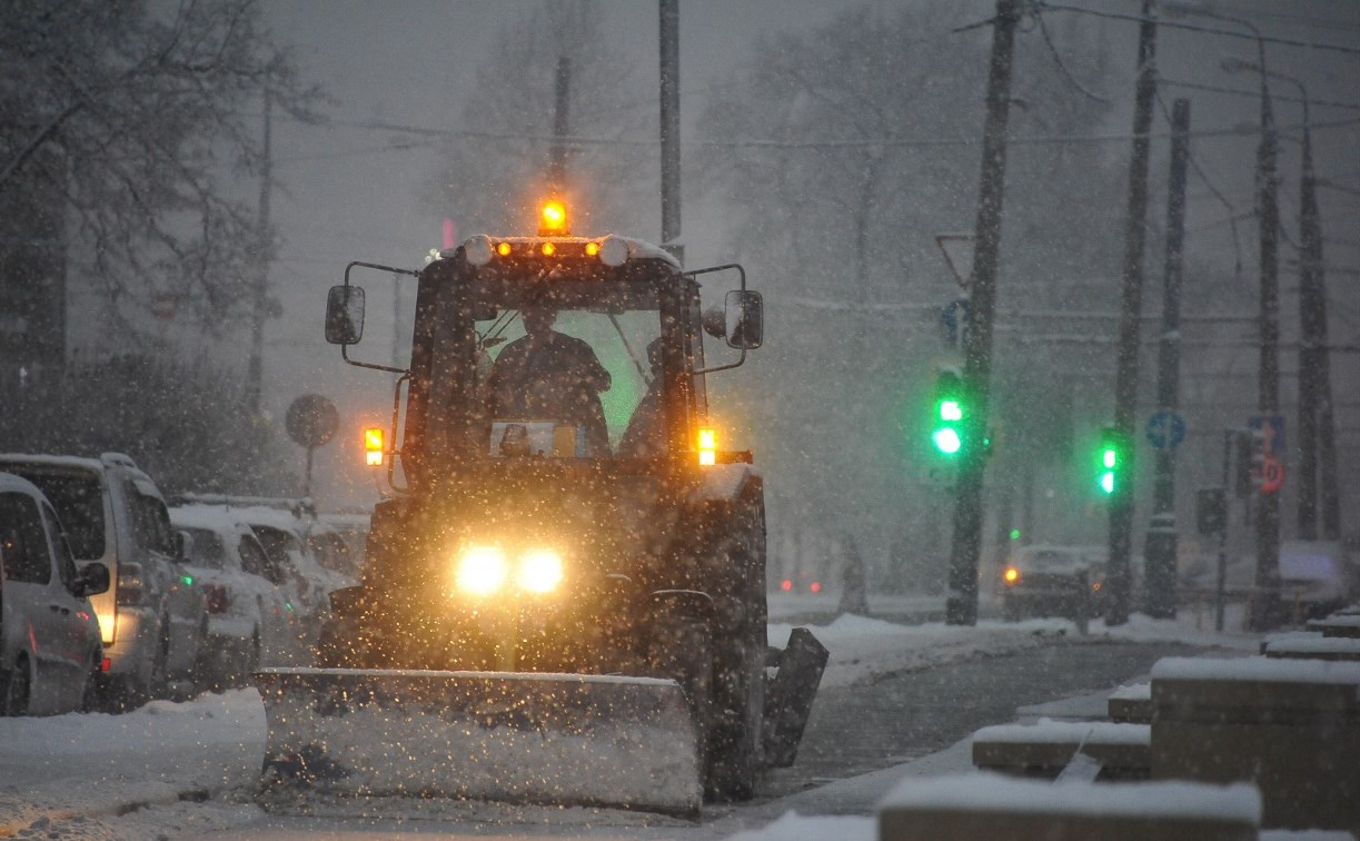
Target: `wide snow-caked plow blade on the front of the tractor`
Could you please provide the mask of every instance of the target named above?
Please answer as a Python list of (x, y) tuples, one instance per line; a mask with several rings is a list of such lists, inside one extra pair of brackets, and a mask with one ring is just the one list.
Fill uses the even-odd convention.
[(264, 772), (356, 795), (698, 814), (675, 680), (540, 672), (269, 668)]

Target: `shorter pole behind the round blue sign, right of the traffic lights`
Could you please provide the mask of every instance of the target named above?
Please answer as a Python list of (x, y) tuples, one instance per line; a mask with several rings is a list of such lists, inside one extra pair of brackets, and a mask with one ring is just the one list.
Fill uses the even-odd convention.
[[(1161, 337), (1157, 343), (1157, 408), (1175, 412), (1180, 392), (1180, 280), (1186, 238), (1186, 163), (1190, 159), (1190, 101), (1171, 110), (1171, 181), (1167, 188), (1167, 268), (1161, 287)], [(1146, 606), (1155, 619), (1176, 615), (1176, 449), (1157, 449), (1152, 521), (1148, 528)]]

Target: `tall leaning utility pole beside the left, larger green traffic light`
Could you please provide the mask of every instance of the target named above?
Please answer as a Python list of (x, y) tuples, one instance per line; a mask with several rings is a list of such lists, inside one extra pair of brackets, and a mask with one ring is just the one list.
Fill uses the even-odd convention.
[(1001, 200), (1006, 181), (1006, 121), (1010, 116), (1010, 64), (1015, 52), (1019, 0), (997, 0), (991, 26), (991, 63), (987, 72), (987, 118), (982, 129), (982, 178), (978, 186), (976, 252), (972, 294), (964, 340), (963, 388), (968, 412), (959, 461), (953, 509), (953, 546), (949, 554), (949, 597), (945, 622), (978, 623), (978, 558), (982, 554), (982, 478), (987, 467), (987, 392), (991, 377), (991, 313), (997, 301), (997, 254), (1001, 249)]

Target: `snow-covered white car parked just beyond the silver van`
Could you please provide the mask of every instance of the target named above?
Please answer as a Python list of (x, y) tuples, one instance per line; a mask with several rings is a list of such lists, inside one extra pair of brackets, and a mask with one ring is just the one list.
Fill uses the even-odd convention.
[(185, 565), (203, 585), (208, 641), (200, 653), (200, 683), (227, 686), (261, 664), (288, 663), (295, 638), (284, 588), (287, 570), (275, 565), (254, 531), (231, 512), (204, 506), (170, 509), (185, 535)]

